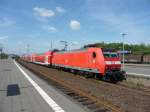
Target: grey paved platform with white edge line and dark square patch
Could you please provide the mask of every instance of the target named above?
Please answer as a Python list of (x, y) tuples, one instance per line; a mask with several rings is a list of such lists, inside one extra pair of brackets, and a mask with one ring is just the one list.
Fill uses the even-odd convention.
[(0, 60), (0, 112), (85, 111), (14, 60)]

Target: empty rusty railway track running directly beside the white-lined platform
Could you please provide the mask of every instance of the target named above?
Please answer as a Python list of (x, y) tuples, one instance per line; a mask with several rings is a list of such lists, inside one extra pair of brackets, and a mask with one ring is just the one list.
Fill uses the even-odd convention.
[(72, 87), (69, 84), (58, 80), (54, 77), (48, 77), (46, 74), (28, 67), (26, 64), (19, 62), (31, 72), (37, 74), (42, 79), (46, 80), (50, 85), (60, 90), (63, 94), (69, 96), (73, 100), (80, 103), (87, 108), (90, 112), (123, 112), (119, 107), (112, 105), (110, 102), (97, 98), (90, 93), (80, 90), (77, 87)]

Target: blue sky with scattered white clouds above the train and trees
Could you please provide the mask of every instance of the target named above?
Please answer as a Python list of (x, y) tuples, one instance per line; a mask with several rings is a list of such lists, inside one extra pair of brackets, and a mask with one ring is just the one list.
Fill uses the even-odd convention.
[(94, 42), (150, 44), (149, 0), (0, 0), (0, 43), (9, 53)]

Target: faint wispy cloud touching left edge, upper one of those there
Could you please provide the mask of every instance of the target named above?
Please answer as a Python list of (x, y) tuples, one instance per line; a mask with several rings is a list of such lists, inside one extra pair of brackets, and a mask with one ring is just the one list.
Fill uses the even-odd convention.
[(15, 21), (8, 19), (6, 17), (3, 17), (0, 19), (0, 27), (8, 27), (14, 24), (15, 24)]

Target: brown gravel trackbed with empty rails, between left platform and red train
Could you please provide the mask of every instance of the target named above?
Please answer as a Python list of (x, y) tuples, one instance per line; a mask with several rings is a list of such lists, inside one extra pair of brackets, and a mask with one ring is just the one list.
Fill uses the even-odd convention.
[(120, 84), (86, 79), (27, 62), (22, 64), (65, 95), (90, 109), (90, 112), (149, 112), (148, 90), (139, 91)]

